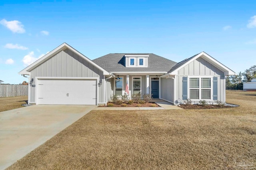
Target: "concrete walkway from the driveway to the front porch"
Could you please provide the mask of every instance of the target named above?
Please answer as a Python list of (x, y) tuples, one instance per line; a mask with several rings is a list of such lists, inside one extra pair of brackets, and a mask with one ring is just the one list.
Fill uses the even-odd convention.
[(96, 107), (94, 110), (160, 110), (160, 109), (182, 110), (181, 107), (174, 106), (171, 103), (161, 99), (153, 99), (152, 102), (155, 102), (161, 107)]

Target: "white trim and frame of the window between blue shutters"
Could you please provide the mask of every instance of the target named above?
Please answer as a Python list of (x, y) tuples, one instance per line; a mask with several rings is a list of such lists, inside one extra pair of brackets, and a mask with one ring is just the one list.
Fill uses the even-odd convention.
[[(190, 78), (199, 78), (199, 88), (190, 88)], [(202, 88), (202, 78), (210, 78), (211, 88)], [(213, 101), (213, 76), (188, 76), (188, 99), (190, 99), (190, 89), (199, 89), (199, 99), (191, 99), (192, 101), (206, 100)], [(202, 99), (202, 89), (210, 89), (210, 99)]]

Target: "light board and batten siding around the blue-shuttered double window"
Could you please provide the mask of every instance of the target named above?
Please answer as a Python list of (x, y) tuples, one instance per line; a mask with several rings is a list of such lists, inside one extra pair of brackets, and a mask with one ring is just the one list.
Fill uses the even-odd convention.
[[(178, 75), (176, 76), (176, 100), (178, 98), (182, 100), (182, 77), (184, 76), (216, 76), (218, 78), (218, 100), (226, 102), (226, 92), (224, 89), (226, 86), (224, 72), (222, 72), (213, 64), (204, 60), (202, 57), (199, 57), (198, 59), (192, 61), (188, 65), (178, 70)], [(184, 101), (182, 100), (182, 102)], [(193, 102), (198, 103), (198, 101)], [(175, 101), (175, 103), (177, 103), (177, 101)], [(209, 103), (215, 103), (215, 100), (209, 101)]]

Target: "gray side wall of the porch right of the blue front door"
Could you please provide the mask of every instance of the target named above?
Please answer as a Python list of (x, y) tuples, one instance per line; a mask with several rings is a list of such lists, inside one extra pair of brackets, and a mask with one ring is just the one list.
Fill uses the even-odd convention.
[(169, 102), (174, 102), (173, 78), (161, 78), (161, 98)]

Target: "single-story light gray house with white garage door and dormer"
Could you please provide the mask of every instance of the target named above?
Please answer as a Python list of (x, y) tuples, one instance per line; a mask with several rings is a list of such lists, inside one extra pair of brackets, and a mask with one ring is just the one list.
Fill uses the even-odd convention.
[(235, 72), (205, 52), (176, 63), (158, 55), (114, 53), (90, 60), (63, 43), (19, 72), (29, 76), (29, 104), (106, 104), (122, 95), (152, 94), (172, 104), (226, 102), (225, 76)]

